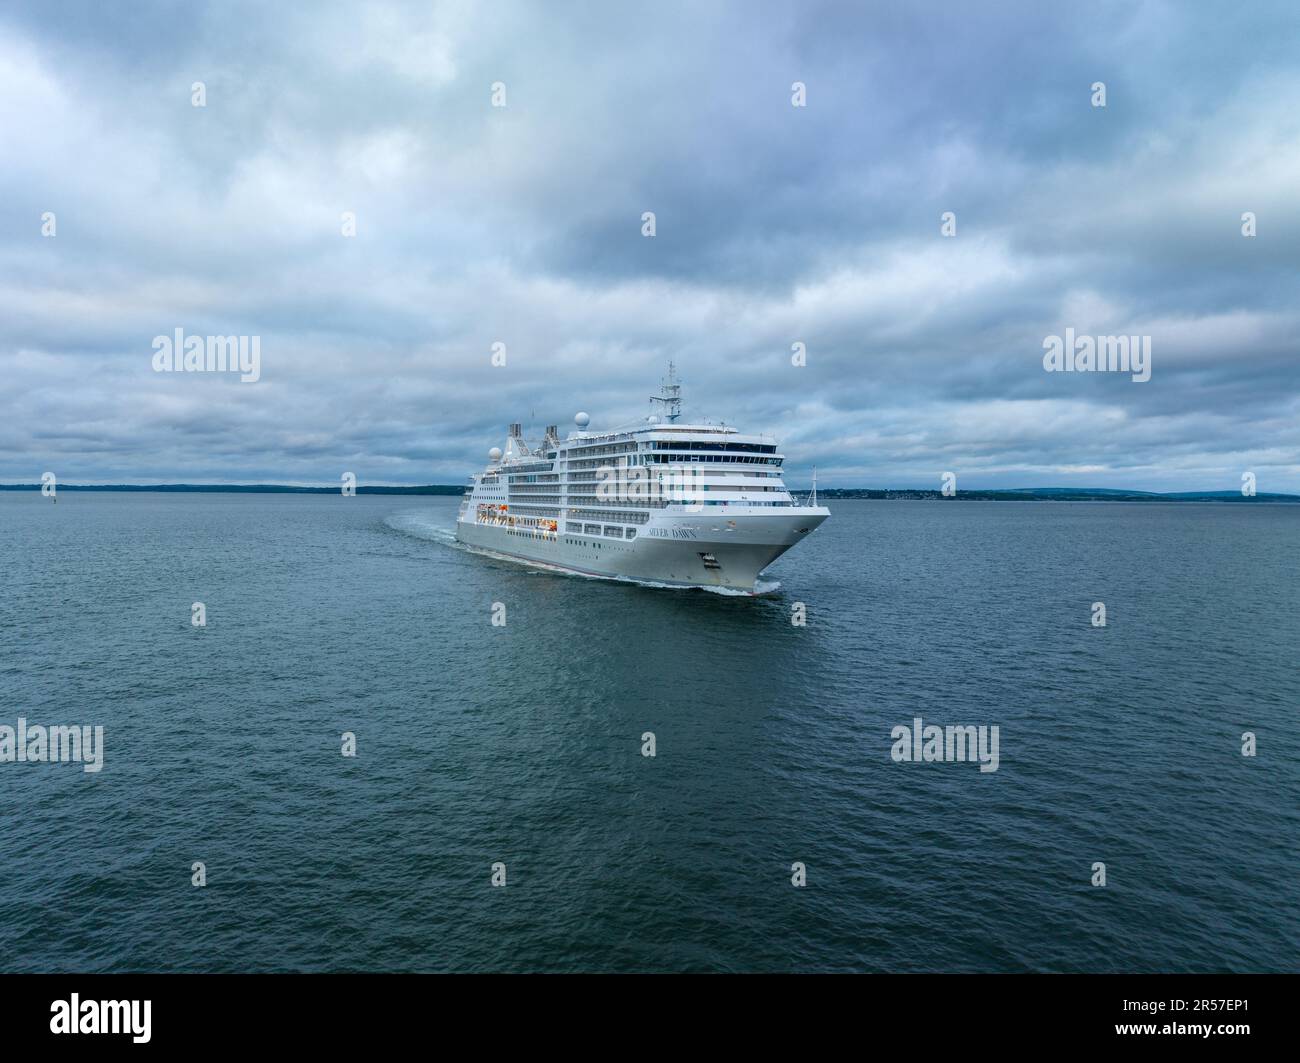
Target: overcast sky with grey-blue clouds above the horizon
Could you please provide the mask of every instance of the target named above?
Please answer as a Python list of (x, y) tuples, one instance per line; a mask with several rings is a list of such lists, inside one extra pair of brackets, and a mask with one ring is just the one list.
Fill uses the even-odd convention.
[[(0, 480), (459, 483), (508, 421), (645, 416), (672, 357), (794, 485), (1300, 493), (1297, 30), (6, 3)], [(156, 373), (178, 327), (260, 337), (260, 379)], [(1067, 327), (1149, 335), (1150, 379), (1045, 372)]]

